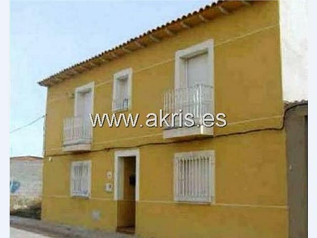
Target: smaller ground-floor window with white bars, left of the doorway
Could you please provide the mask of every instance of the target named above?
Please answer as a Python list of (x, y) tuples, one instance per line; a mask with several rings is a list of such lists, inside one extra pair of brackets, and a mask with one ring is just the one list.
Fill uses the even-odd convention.
[(72, 162), (71, 171), (71, 195), (89, 197), (91, 180), (91, 162)]

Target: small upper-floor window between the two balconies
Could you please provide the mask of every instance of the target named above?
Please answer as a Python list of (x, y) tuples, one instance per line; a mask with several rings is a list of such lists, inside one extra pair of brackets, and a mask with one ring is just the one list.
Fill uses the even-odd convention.
[(126, 111), (131, 108), (132, 69), (114, 74), (112, 111)]

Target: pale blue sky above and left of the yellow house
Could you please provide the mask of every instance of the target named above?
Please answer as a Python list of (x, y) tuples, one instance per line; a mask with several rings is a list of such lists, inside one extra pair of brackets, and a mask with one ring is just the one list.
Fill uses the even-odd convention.
[[(41, 79), (210, 2), (11, 1), (10, 131), (45, 114)], [(10, 156), (42, 156), (43, 123), (10, 133)]]

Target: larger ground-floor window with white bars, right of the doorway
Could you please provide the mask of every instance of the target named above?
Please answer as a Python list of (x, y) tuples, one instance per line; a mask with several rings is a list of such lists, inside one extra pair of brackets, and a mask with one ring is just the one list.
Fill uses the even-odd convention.
[(215, 152), (197, 151), (174, 156), (174, 200), (214, 202)]

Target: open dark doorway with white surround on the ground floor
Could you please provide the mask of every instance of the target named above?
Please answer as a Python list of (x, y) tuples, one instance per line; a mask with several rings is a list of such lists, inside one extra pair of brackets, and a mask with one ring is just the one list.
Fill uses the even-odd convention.
[(138, 151), (115, 154), (115, 199), (117, 200), (117, 231), (135, 231), (135, 202), (138, 198)]

